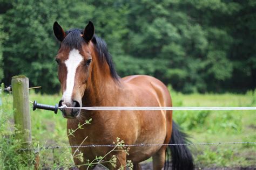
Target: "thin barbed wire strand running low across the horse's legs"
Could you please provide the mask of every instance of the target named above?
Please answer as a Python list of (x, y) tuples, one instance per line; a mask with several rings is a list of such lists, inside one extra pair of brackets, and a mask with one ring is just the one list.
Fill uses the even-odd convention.
[[(122, 145), (123, 147), (134, 146), (176, 146), (176, 145), (231, 145), (231, 144), (256, 144), (256, 141), (230, 141), (230, 142), (215, 142), (215, 143), (183, 143), (183, 144), (132, 144)], [(73, 146), (45, 146), (39, 148), (39, 150), (52, 150), (55, 148), (72, 148), (72, 147), (115, 147), (116, 145), (73, 145)], [(26, 150), (38, 150), (35, 148), (22, 148), (22, 151)]]

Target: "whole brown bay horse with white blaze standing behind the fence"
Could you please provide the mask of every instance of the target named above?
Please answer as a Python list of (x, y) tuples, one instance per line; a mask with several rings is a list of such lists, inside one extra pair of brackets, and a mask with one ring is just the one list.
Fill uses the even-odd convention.
[[(84, 30), (64, 31), (55, 22), (53, 32), (60, 41), (56, 56), (58, 79), (63, 93), (59, 106), (67, 107), (171, 107), (169, 90), (158, 79), (146, 75), (131, 75), (120, 78), (114, 69), (111, 55), (104, 40), (96, 36), (95, 26), (89, 22)], [(133, 144), (185, 143), (186, 135), (172, 121), (172, 111), (92, 111), (83, 109), (62, 109), (68, 118), (67, 129), (77, 129), (69, 135), (71, 146), (112, 145), (116, 138)], [(83, 125), (92, 118), (90, 125)], [(87, 137), (87, 138), (86, 138)], [(86, 140), (84, 140), (86, 138)], [(117, 169), (131, 160), (134, 169), (140, 169), (139, 162), (153, 158), (153, 169), (161, 169), (168, 162), (171, 150), (172, 169), (193, 169), (193, 159), (185, 145), (134, 146), (129, 155), (115, 151), (109, 155), (117, 157)], [(72, 147), (74, 154), (77, 148)], [(80, 147), (84, 160), (104, 156), (112, 147)], [(166, 160), (166, 156), (167, 159)], [(73, 157), (80, 169), (86, 166)], [(89, 167), (91, 168), (91, 167)], [(168, 168), (168, 167), (167, 167)]]

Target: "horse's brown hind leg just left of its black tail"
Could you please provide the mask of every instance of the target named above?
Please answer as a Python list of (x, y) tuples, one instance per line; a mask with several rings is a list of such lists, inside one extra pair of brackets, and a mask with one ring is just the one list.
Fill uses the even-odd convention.
[(164, 167), (166, 146), (162, 146), (157, 153), (153, 155), (153, 169), (159, 170)]

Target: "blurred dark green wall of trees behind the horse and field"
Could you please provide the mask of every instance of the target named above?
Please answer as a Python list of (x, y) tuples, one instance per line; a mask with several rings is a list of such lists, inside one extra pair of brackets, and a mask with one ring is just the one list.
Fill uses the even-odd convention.
[(91, 20), (120, 76), (147, 74), (182, 93), (256, 87), (256, 1), (6, 1), (0, 5), (0, 81), (24, 74), (58, 93), (52, 25)]

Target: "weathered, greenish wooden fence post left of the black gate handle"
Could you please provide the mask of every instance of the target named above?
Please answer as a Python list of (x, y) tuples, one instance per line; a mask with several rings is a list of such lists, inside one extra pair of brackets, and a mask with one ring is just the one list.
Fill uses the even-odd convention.
[(29, 109), (29, 79), (24, 75), (14, 76), (11, 80), (14, 97), (15, 137), (20, 139), (24, 148), (31, 148), (31, 122)]

